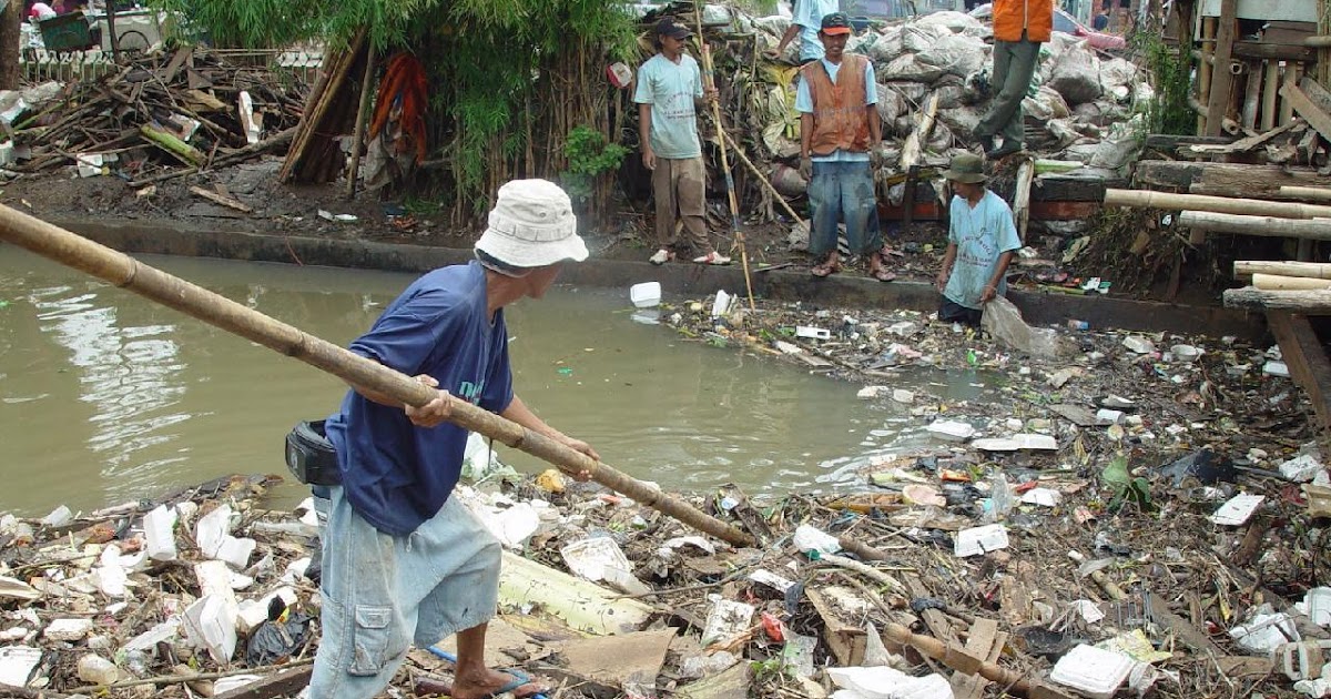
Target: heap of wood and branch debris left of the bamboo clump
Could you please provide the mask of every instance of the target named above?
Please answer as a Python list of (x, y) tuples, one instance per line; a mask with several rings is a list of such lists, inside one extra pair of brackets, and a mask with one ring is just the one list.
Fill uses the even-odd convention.
[[(130, 184), (233, 165), (290, 141), (305, 97), (265, 67), (205, 49), (146, 53), (101, 77), (0, 92), (0, 168)], [(164, 178), (164, 177), (156, 177)]]

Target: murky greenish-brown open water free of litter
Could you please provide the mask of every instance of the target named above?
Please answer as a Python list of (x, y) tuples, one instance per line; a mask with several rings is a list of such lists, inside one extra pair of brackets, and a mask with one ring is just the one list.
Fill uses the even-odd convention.
[[(414, 276), (145, 256), (346, 345)], [(646, 281), (646, 280), (644, 280)], [(922, 439), (841, 382), (635, 321), (623, 289), (558, 286), (508, 314), (519, 395), (602, 458), (671, 490), (828, 490)], [(974, 374), (908, 373), (950, 399)], [(298, 361), (0, 244), (0, 511), (92, 510), (232, 473), (286, 474), (282, 441), (345, 386)], [(913, 429), (904, 430), (906, 425)], [(519, 470), (535, 458), (500, 449)], [(284, 485), (280, 505), (302, 489)]]

